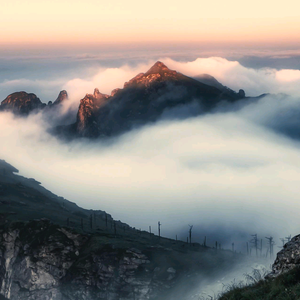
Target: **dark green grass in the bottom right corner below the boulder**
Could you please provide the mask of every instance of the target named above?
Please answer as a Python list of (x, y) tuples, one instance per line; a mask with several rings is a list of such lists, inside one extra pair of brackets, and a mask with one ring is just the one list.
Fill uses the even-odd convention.
[(273, 279), (251, 275), (247, 286), (232, 284), (219, 300), (298, 300), (300, 299), (300, 268)]

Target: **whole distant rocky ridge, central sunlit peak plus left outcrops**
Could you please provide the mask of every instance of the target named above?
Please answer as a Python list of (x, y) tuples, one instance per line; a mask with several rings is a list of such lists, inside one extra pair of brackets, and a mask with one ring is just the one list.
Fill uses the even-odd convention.
[(53, 134), (67, 139), (97, 138), (122, 134), (165, 115), (186, 118), (207, 113), (224, 101), (245, 98), (243, 90), (236, 93), (209, 75), (201, 78), (190, 78), (158, 61), (147, 72), (126, 82), (123, 88), (114, 89), (111, 95), (102, 94), (97, 88), (93, 94), (86, 94), (80, 100), (77, 114), (73, 108), (57, 111), (68, 100), (65, 90), (47, 105), (35, 94), (13, 93), (2, 101), (0, 111), (27, 116), (43, 110)]

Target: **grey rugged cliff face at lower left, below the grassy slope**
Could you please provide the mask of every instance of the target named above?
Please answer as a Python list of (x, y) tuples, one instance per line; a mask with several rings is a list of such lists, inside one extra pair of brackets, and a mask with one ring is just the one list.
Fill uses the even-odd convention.
[(146, 300), (175, 285), (173, 267), (162, 272), (141, 250), (102, 239), (47, 220), (2, 229), (0, 294), (11, 300)]

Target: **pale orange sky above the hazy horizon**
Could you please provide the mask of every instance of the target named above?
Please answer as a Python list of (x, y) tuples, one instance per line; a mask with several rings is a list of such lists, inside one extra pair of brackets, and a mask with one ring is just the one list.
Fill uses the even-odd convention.
[(300, 43), (300, 2), (10, 0), (0, 45)]

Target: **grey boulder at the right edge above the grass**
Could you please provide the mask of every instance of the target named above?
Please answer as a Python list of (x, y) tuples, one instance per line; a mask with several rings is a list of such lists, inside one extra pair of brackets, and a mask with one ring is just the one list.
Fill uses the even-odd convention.
[(278, 252), (270, 277), (276, 277), (295, 267), (300, 267), (300, 235), (296, 235)]

